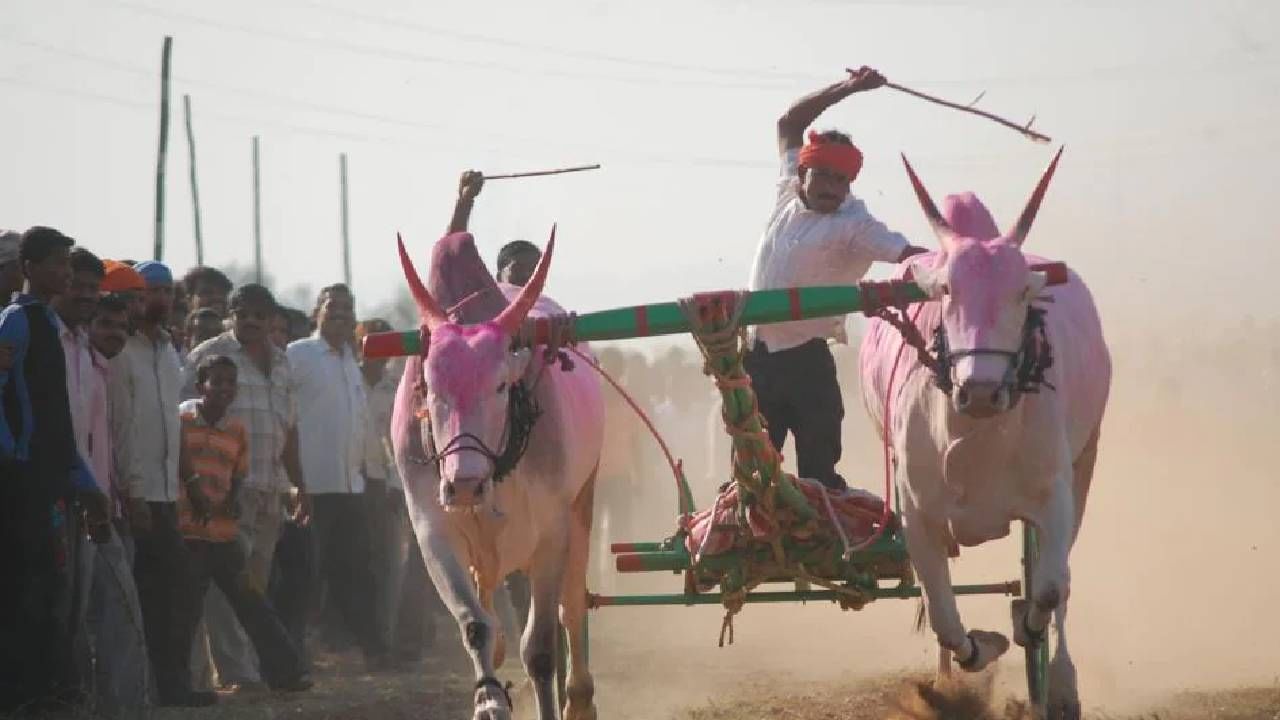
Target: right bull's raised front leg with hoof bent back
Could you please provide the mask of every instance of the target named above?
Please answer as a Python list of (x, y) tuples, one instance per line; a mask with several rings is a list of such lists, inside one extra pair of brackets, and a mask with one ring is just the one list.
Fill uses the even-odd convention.
[(906, 520), (906, 550), (911, 556), (911, 565), (915, 566), (915, 574), (924, 585), (924, 605), (938, 644), (955, 655), (961, 669), (970, 673), (982, 670), (1009, 650), (1009, 641), (1000, 633), (965, 632), (956, 596), (951, 591), (946, 544), (931, 536), (910, 493), (902, 498), (902, 512)]

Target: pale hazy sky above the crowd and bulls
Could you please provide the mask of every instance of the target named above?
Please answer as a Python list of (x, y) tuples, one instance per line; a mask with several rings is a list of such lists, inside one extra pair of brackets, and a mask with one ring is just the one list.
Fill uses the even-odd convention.
[[(206, 261), (252, 260), (251, 136), (265, 264), (340, 278), (338, 154), (351, 165), (355, 286), (402, 284), (457, 176), (602, 163), (492, 183), (472, 228), (561, 225), (549, 292), (579, 311), (746, 284), (796, 96), (869, 64), (1025, 119), (1068, 146), (1030, 249), (1068, 260), (1120, 322), (1275, 316), (1280, 3), (220, 3), (0, 0), (0, 227), (52, 224), (102, 256), (152, 245), (159, 59), (174, 37), (165, 260), (193, 263), (180, 100), (195, 106)], [(827, 113), (867, 155), (873, 213), (932, 243), (897, 161), (1007, 224), (1052, 154), (881, 90)], [(1245, 249), (1244, 252), (1240, 249)], [(1108, 320), (1115, 322), (1115, 320)]]

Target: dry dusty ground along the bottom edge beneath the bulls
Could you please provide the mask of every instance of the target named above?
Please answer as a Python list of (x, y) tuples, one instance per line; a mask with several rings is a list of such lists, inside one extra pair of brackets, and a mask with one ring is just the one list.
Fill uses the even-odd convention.
[[(156, 720), (466, 720), (470, 717), (470, 682), (458, 662), (430, 661), (398, 673), (367, 675), (358, 664), (329, 657), (316, 673), (308, 693), (282, 696), (266, 692), (223, 694), (218, 707), (165, 710)], [(504, 675), (518, 678), (509, 673)], [(605, 673), (609, 675), (611, 673)], [(1016, 698), (996, 684), (973, 683), (964, 692), (946, 693), (951, 712), (937, 714), (920, 693), (924, 674), (899, 673), (872, 679), (795, 683), (785, 689), (740, 678), (721, 688), (714, 700), (689, 707), (658, 710), (635, 693), (600, 685), (600, 716), (618, 703), (618, 691), (628, 700), (626, 716), (655, 720), (1024, 720)], [(660, 693), (662, 683), (650, 687)], [(609, 697), (612, 696), (612, 697)], [(516, 692), (517, 716), (527, 717), (531, 697)], [(644, 707), (654, 708), (646, 714)], [(974, 708), (979, 710), (974, 710)], [(1271, 687), (1219, 692), (1185, 692), (1129, 714), (1094, 711), (1085, 720), (1277, 720), (1280, 683)]]

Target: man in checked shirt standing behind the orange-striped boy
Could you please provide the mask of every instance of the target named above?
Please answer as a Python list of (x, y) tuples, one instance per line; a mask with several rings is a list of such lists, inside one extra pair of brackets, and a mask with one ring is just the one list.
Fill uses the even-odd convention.
[[(265, 591), (289, 486), (298, 492), (296, 521), (306, 523), (311, 503), (298, 456), (293, 375), (284, 351), (269, 336), (275, 297), (260, 284), (244, 284), (232, 293), (228, 305), (232, 328), (192, 348), (187, 357), (183, 397), (197, 395), (196, 368), (205, 357), (225, 355), (236, 363), (239, 389), (228, 414), (244, 425), (250, 441), (250, 469), (239, 492), (241, 541), (248, 546), (250, 578)], [(252, 646), (227, 601), (211, 593), (205, 612), (210, 650), (223, 683), (260, 683)]]

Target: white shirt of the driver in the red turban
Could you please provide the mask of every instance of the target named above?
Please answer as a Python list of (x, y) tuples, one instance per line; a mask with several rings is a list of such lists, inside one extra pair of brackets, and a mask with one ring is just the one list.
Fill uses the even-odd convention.
[[(835, 213), (805, 208), (799, 193), (799, 150), (782, 155), (778, 200), (755, 251), (750, 290), (854, 284), (873, 261), (897, 261), (908, 247), (906, 238), (873, 218), (861, 200), (849, 196)], [(759, 325), (755, 337), (769, 352), (814, 338), (845, 342), (845, 318)]]

